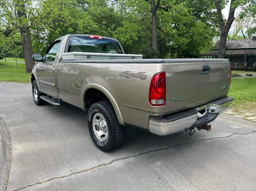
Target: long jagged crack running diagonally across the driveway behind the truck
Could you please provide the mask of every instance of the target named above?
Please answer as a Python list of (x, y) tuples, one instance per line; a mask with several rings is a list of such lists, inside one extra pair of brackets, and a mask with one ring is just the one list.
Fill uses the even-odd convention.
[(81, 170), (81, 171), (77, 171), (77, 172), (73, 172), (73, 173), (70, 173), (68, 175), (63, 175), (63, 176), (58, 176), (58, 177), (54, 177), (54, 178), (51, 178), (51, 179), (47, 179), (47, 180), (44, 180), (44, 181), (41, 181), (41, 182), (37, 182), (37, 183), (34, 183), (34, 184), (30, 184), (30, 185), (27, 185), (27, 186), (24, 186), (24, 187), (21, 187), (19, 189), (16, 189), (16, 190), (13, 190), (13, 191), (18, 191), (18, 190), (21, 190), (21, 189), (25, 189), (27, 187), (32, 187), (32, 186), (35, 186), (35, 185), (38, 185), (38, 184), (43, 184), (45, 182), (49, 182), (49, 181), (52, 181), (54, 179), (61, 179), (61, 178), (65, 178), (65, 177), (69, 177), (69, 176), (72, 176), (72, 175), (75, 175), (75, 174), (79, 174), (79, 173), (82, 173), (82, 172), (86, 172), (86, 171), (90, 171), (92, 169), (95, 169), (95, 168), (98, 168), (98, 167), (101, 167), (101, 166), (106, 166), (106, 165), (110, 165), (111, 163), (115, 162), (115, 161), (119, 161), (119, 160), (123, 160), (123, 159), (128, 159), (128, 158), (134, 158), (136, 156), (141, 156), (141, 155), (145, 155), (145, 154), (148, 154), (148, 153), (151, 153), (151, 152), (157, 152), (157, 151), (161, 151), (161, 150), (167, 150), (169, 148), (173, 148), (173, 147), (177, 147), (177, 146), (182, 146), (182, 145), (187, 145), (187, 144), (190, 144), (190, 143), (195, 143), (195, 142), (199, 142), (199, 141), (207, 141), (207, 140), (214, 140), (214, 139), (222, 139), (222, 138), (228, 138), (228, 137), (231, 137), (233, 135), (245, 135), (245, 134), (252, 134), (252, 133), (255, 133), (256, 130), (254, 130), (253, 132), (248, 132), (248, 133), (234, 133), (234, 134), (230, 134), (228, 136), (224, 136), (224, 137), (214, 137), (214, 138), (209, 138), (209, 139), (199, 139), (199, 140), (195, 140), (195, 141), (191, 141), (191, 142), (188, 142), (188, 143), (182, 143), (182, 144), (178, 144), (178, 145), (174, 145), (174, 146), (168, 146), (166, 148), (161, 148), (161, 149), (156, 149), (156, 150), (150, 150), (148, 152), (144, 152), (144, 153), (140, 153), (140, 154), (136, 154), (136, 155), (132, 155), (132, 156), (126, 156), (126, 157), (123, 157), (123, 158), (118, 158), (118, 159), (114, 159), (108, 163), (103, 163), (103, 164), (99, 164), (97, 166), (94, 166), (94, 167), (91, 167), (91, 168), (88, 168), (88, 169), (84, 169), (84, 170)]

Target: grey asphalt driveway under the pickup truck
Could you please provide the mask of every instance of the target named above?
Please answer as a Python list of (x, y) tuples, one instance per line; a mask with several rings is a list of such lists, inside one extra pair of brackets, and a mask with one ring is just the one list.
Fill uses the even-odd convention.
[(86, 116), (69, 104), (37, 106), (28, 83), (1, 82), (7, 190), (256, 190), (254, 122), (221, 114), (210, 132), (194, 136), (127, 128), (123, 146), (105, 153), (92, 143)]

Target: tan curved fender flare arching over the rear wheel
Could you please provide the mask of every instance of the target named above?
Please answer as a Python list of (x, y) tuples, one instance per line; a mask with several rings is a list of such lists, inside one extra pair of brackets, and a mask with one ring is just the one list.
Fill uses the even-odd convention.
[(121, 125), (124, 125), (124, 121), (123, 121), (123, 118), (122, 118), (122, 115), (121, 115), (121, 112), (118, 108), (118, 105), (116, 103), (116, 100), (114, 99), (114, 97), (109, 93), (109, 91), (102, 87), (101, 85), (98, 85), (98, 84), (94, 84), (94, 83), (90, 83), (88, 85), (85, 86), (83, 92), (82, 92), (82, 100), (81, 100), (81, 103), (82, 103), (82, 109), (85, 110), (85, 99), (84, 99), (84, 96), (87, 92), (88, 89), (97, 89), (99, 91), (101, 91), (102, 93), (104, 93), (104, 95), (107, 96), (107, 98), (110, 100), (112, 106), (114, 107), (114, 110), (116, 112), (116, 116), (117, 116), (117, 119), (118, 119), (118, 122), (121, 124)]

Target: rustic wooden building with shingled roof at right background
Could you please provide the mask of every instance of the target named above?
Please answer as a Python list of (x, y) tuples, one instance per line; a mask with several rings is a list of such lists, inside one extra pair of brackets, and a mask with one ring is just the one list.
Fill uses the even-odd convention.
[[(214, 49), (199, 56), (201, 58), (218, 58), (218, 42)], [(225, 58), (229, 59), (231, 69), (256, 71), (256, 36), (252, 39), (228, 40)]]

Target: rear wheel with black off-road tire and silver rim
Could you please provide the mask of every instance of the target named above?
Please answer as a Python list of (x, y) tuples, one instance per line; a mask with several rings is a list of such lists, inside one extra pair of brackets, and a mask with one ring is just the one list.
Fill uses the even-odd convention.
[(125, 139), (126, 128), (119, 124), (109, 101), (92, 104), (88, 111), (88, 130), (94, 144), (102, 151), (120, 146)]

